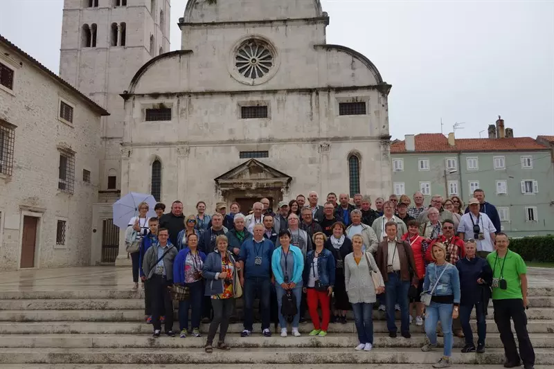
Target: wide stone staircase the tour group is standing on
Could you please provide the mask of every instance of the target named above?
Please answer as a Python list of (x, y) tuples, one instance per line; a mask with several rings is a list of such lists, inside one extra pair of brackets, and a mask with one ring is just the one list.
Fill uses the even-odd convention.
[[(422, 352), (422, 327), (411, 326), (411, 339), (391, 339), (383, 313), (374, 312), (375, 348), (356, 352), (355, 325), (332, 324), (325, 338), (307, 336), (311, 323), (301, 324), (301, 337), (271, 338), (260, 334), (260, 324), (248, 338), (240, 338), (242, 323), (229, 327), (226, 342), (231, 350), (203, 350), (205, 334), (153, 339), (152, 326), (143, 323), (143, 293), (118, 289), (82, 291), (0, 291), (1, 368), (150, 368), (195, 364), (195, 369), (213, 368), (429, 368), (442, 350)], [(537, 354), (537, 368), (554, 368), (554, 288), (530, 289), (528, 330)], [(238, 309), (240, 311), (240, 307)], [(484, 354), (461, 354), (463, 339), (454, 339), (454, 368), (498, 366), (503, 346), (492, 321), (487, 321)], [(474, 332), (476, 332), (475, 324)], [(202, 325), (207, 332), (208, 325)], [(175, 323), (178, 331), (178, 323)], [(439, 339), (441, 342), (442, 339)], [(333, 365), (334, 364), (334, 365)], [(472, 365), (473, 364), (473, 365)], [(190, 368), (189, 366), (186, 366)]]

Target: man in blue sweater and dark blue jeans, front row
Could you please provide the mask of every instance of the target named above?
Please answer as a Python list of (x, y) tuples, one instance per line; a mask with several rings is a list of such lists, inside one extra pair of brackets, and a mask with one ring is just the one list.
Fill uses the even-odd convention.
[(260, 297), (262, 309), (262, 334), (271, 337), (269, 330), (269, 292), (271, 291), (271, 256), (274, 251), (273, 242), (264, 238), (265, 226), (255, 224), (254, 237), (242, 244), (239, 253), (240, 284), (244, 286), (244, 330), (241, 337), (252, 333), (253, 303), (256, 295)]

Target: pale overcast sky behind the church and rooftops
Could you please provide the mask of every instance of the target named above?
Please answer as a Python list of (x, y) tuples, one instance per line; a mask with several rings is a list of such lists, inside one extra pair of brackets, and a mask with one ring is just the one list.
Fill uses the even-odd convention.
[[(57, 73), (63, 0), (0, 2), (0, 34)], [(463, 122), (457, 137), (479, 137), (499, 114), (515, 136), (554, 135), (553, 1), (321, 2), (328, 43), (363, 53), (393, 85), (393, 138), (440, 132), (441, 118), (445, 134)], [(171, 4), (175, 50), (186, 0)]]

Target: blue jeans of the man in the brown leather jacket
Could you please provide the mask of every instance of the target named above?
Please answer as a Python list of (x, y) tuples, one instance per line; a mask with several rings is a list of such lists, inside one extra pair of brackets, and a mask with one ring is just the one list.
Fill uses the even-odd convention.
[(410, 282), (400, 279), (400, 272), (388, 273), (385, 282), (386, 291), (386, 329), (388, 332), (396, 332), (398, 329), (394, 323), (394, 305), (400, 305), (400, 332), (410, 332), (410, 316), (408, 303), (408, 290)]

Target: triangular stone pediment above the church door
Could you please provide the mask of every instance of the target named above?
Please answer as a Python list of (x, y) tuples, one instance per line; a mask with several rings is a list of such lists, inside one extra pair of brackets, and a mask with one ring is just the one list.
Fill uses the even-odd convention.
[(288, 188), (290, 181), (292, 177), (256, 159), (250, 159), (215, 179), (221, 191), (285, 189)]

